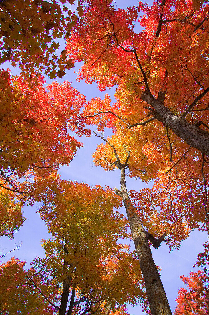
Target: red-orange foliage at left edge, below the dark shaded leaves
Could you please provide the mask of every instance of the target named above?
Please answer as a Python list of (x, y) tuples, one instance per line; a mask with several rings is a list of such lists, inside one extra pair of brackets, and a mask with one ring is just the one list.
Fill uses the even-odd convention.
[(83, 125), (68, 124), (70, 114), (80, 114), (85, 97), (68, 82), (53, 82), (47, 91), (42, 77), (32, 76), (29, 85), (24, 77), (11, 80), (2, 71), (0, 80), (0, 185), (21, 192), (19, 178), (44, 176), (68, 165), (82, 146), (67, 128), (89, 135)]

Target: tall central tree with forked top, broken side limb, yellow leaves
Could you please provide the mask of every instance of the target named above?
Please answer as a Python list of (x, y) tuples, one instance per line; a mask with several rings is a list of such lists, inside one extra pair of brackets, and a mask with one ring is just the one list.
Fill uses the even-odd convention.
[[(115, 187), (114, 191), (118, 194), (118, 196), (122, 198), (124, 207), (126, 209), (126, 214), (129, 220), (132, 238), (135, 244), (141, 272), (143, 274), (143, 279), (145, 281), (145, 287), (151, 313), (171, 314), (168, 299), (166, 297), (165, 290), (160, 279), (160, 275), (157, 271), (157, 267), (152, 258), (151, 248), (148, 242), (149, 240), (155, 248), (159, 248), (165, 236), (167, 235), (167, 232), (163, 233), (158, 239), (156, 239), (150, 232), (145, 231), (140, 220), (140, 215), (135, 206), (133, 205), (133, 203), (131, 202), (126, 188), (125, 170), (129, 168), (128, 162), (131, 156), (131, 151), (128, 151), (124, 146), (126, 157), (121, 158), (118, 156), (115, 146), (108, 139), (105, 139), (104, 136), (100, 137), (102, 138), (103, 141), (106, 142), (107, 147), (110, 148), (110, 153), (112, 153), (111, 155), (113, 157), (113, 160), (112, 157), (110, 157), (108, 154), (109, 153), (108, 149), (106, 151), (105, 147), (103, 146), (103, 150), (101, 150), (100, 146), (99, 149), (97, 147), (97, 152), (96, 154), (93, 155), (94, 162), (97, 165), (99, 165), (100, 161), (102, 162), (105, 161), (108, 168), (113, 168), (114, 166), (120, 169), (121, 190), (118, 190)], [(119, 144), (119, 146), (121, 146), (121, 143)], [(102, 157), (102, 155), (105, 157)]]

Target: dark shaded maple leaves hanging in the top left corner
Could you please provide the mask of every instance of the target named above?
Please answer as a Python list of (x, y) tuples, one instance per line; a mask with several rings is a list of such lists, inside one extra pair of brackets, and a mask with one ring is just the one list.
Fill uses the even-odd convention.
[[(62, 0), (62, 3), (73, 4), (74, 1)], [(78, 6), (79, 14), (82, 6)], [(57, 1), (4, 1), (0, 9), (0, 64), (9, 60), (13, 66), (19, 66), (22, 74), (30, 78), (34, 71), (50, 74), (58, 66), (64, 66), (60, 61), (54, 63), (52, 55), (59, 48), (59, 43), (47, 43), (64, 38), (66, 29), (72, 22), (72, 12), (68, 16), (64, 12), (65, 6), (60, 8)], [(47, 64), (47, 70), (45, 65)], [(54, 78), (54, 76), (51, 78)]]

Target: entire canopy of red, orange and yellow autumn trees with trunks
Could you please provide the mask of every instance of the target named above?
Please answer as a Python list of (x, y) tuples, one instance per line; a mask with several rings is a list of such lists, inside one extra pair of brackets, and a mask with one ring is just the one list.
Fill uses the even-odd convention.
[[(36, 258), (30, 270), (16, 258), (2, 264), (1, 312), (13, 314), (12, 283), (15, 300), (26, 296), (25, 314), (30, 304), (43, 314), (123, 314), (127, 303), (140, 301), (147, 314), (168, 315), (151, 246), (164, 241), (173, 250), (192, 229), (209, 227), (209, 6), (73, 3), (0, 3), (0, 62), (21, 70), (16, 77), (1, 70), (0, 232), (12, 238), (25, 220), (22, 205), (39, 201), (50, 235), (42, 241), (46, 258)], [(57, 52), (60, 39), (65, 47)], [(114, 104), (108, 94), (86, 101), (67, 81), (46, 86), (42, 75), (62, 78), (76, 62), (82, 62), (78, 82), (97, 82), (100, 91), (115, 87)], [(102, 141), (93, 162), (120, 169), (120, 189), (90, 188), (57, 173), (82, 147), (73, 133), (90, 137), (92, 127)], [(128, 192), (126, 175), (152, 181), (152, 188)], [(127, 221), (113, 210), (122, 201), (132, 253), (119, 244), (128, 238)], [(208, 242), (204, 247), (198, 266), (209, 260)], [(205, 315), (208, 269), (182, 278), (190, 291), (179, 290), (175, 313)], [(21, 299), (15, 312), (22, 312)]]

